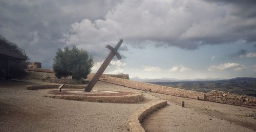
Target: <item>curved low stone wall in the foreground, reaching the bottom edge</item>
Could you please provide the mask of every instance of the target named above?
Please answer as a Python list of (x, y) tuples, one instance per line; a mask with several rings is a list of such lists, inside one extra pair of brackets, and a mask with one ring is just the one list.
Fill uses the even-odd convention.
[(157, 109), (160, 109), (167, 105), (167, 101), (161, 100), (155, 103), (148, 104), (144, 106), (143, 108), (135, 111), (130, 118), (127, 121), (127, 127), (130, 129), (130, 131), (138, 131), (142, 132), (145, 131), (140, 122), (152, 112), (156, 111)]

